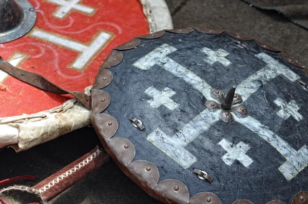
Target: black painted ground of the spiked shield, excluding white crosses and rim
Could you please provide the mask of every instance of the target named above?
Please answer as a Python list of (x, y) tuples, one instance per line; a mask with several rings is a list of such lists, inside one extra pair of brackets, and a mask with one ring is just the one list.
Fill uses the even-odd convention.
[[(254, 42), (245, 42), (251, 48), (248, 51), (239, 48), (233, 40), (233, 37), (226, 34), (210, 35), (198, 31), (188, 34), (166, 33), (162, 38), (142, 40), (138, 48), (123, 51), (123, 62), (110, 68), (113, 80), (103, 90), (111, 95), (111, 104), (104, 112), (118, 119), (119, 130), (115, 137), (128, 138), (134, 144), (135, 160), (148, 160), (158, 167), (160, 181), (168, 178), (179, 179), (188, 187), (191, 196), (210, 191), (218, 195), (223, 203), (232, 203), (237, 199), (249, 199), (255, 203), (280, 199), (290, 203), (297, 192), (308, 190), (308, 168), (287, 181), (278, 170), (278, 167), (285, 162), (285, 158), (267, 141), (237, 121), (230, 124), (218, 121), (208, 131), (190, 142), (186, 149), (194, 154), (198, 161), (187, 169), (183, 169), (146, 139), (156, 128), (162, 129), (168, 135), (178, 132), (205, 109), (202, 94), (184, 80), (158, 65), (148, 70), (141, 70), (132, 65), (163, 44), (177, 48), (177, 51), (168, 55), (171, 59), (196, 73), (211, 87), (224, 91), (240, 84), (248, 76), (265, 67), (265, 63), (254, 56), (261, 52), (271, 55), (307, 81), (303, 71), (288, 64), (279, 53), (267, 51)], [(225, 58), (232, 64), (227, 67), (220, 63), (207, 64), (204, 61), (207, 55), (201, 52), (203, 47), (212, 50), (224, 49), (230, 53)], [(180, 105), (179, 108), (174, 111), (164, 106), (151, 108), (146, 103), (151, 97), (144, 93), (148, 87), (160, 91), (166, 87), (174, 90), (176, 94), (171, 98)], [(305, 108), (307, 93), (298, 82), (291, 83), (284, 76), (277, 76), (256, 91), (242, 106), (248, 109), (252, 117), (269, 127), (295, 150), (299, 150), (308, 144), (306, 136), (308, 124), (305, 118), (308, 115), (308, 110)], [(292, 116), (286, 120), (279, 117), (276, 113), (280, 108), (274, 104), (274, 100), (278, 97), (287, 103), (295, 100), (301, 107), (299, 113), (304, 119), (298, 122)], [(128, 120), (131, 116), (143, 121), (144, 131), (132, 127)], [(248, 168), (238, 161), (227, 166), (221, 159), (226, 151), (218, 145), (223, 138), (234, 144), (240, 141), (248, 144), (251, 149), (246, 154), (254, 162)], [(205, 170), (214, 181), (208, 183), (200, 180), (192, 173), (194, 168)]]

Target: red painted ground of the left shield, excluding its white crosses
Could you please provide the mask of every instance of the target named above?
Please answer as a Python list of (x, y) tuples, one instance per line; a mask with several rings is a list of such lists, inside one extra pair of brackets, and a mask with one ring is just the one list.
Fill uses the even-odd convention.
[[(78, 52), (31, 37), (29, 34), (0, 45), (0, 56), (4, 59), (8, 59), (15, 51), (26, 53), (29, 58), (20, 68), (42, 74), (53, 83), (71, 91), (84, 91), (85, 87), (93, 84), (99, 67), (112, 48), (149, 32), (138, 0), (83, 0), (80, 4), (98, 9), (94, 15), (71, 11), (63, 19), (53, 16), (57, 5), (41, 0), (29, 0), (29, 2), (37, 12), (35, 28), (83, 44), (91, 42), (100, 30), (113, 33), (110, 42), (90, 60), (84, 71), (69, 68), (78, 56)], [(70, 95), (51, 94), (13, 77), (7, 77), (2, 84), (0, 83), (0, 117), (51, 109), (69, 98)]]

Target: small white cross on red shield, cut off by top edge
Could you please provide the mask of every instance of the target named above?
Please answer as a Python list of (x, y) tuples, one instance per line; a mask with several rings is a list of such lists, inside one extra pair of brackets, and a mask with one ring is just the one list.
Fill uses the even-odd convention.
[(52, 13), (54, 17), (65, 18), (72, 10), (93, 15), (97, 9), (80, 4), (82, 0), (45, 0), (51, 4), (59, 5)]

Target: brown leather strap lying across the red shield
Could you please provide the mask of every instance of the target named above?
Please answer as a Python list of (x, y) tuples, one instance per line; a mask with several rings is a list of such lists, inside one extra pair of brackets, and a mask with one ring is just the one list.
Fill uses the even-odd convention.
[(40, 74), (29, 72), (23, 69), (18, 69), (0, 57), (0, 70), (5, 71), (9, 75), (17, 78), (18, 80), (24, 81), (25, 83), (32, 85), (33, 87), (48, 91), (54, 94), (71, 94), (75, 98), (81, 101), (81, 103), (90, 109), (90, 97), (85, 93), (79, 91), (68, 91), (61, 87), (53, 84), (51, 81), (46, 79)]

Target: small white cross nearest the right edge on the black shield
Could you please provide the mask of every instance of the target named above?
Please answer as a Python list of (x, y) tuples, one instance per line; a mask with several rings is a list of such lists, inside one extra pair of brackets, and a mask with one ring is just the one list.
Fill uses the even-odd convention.
[(303, 116), (298, 112), (300, 107), (297, 105), (295, 100), (291, 100), (290, 103), (287, 104), (281, 98), (276, 98), (276, 100), (274, 100), (274, 103), (281, 108), (281, 110), (277, 112), (277, 115), (279, 115), (283, 119), (287, 119), (291, 115), (297, 121), (303, 119)]

